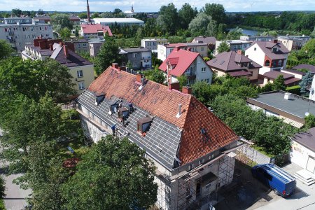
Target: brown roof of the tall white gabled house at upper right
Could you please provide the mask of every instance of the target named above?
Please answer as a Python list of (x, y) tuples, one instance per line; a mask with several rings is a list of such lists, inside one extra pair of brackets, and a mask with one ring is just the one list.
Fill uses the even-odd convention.
[[(278, 43), (274, 43), (273, 41), (254, 41), (249, 45), (248, 48), (251, 48), (251, 46), (257, 44), (259, 48), (262, 50), (262, 52), (265, 53), (269, 59), (285, 59), (286, 57), (283, 56), (283, 54), (287, 54), (290, 51), (279, 41)], [(279, 51), (272, 52), (272, 48), (274, 46), (277, 46), (279, 48)]]

